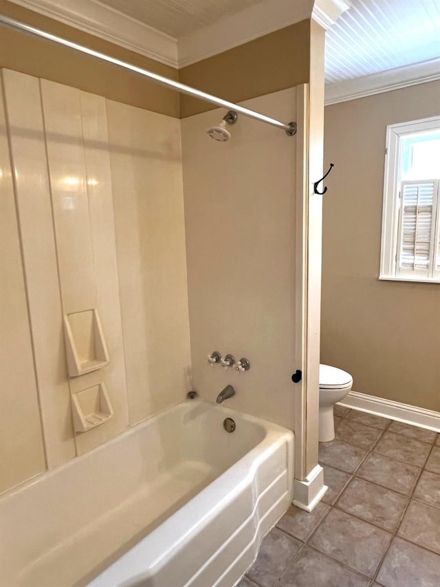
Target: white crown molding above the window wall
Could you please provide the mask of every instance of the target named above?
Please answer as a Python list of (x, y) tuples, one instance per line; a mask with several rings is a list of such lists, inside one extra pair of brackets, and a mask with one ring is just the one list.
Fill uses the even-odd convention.
[(440, 80), (440, 57), (325, 86), (325, 105)]

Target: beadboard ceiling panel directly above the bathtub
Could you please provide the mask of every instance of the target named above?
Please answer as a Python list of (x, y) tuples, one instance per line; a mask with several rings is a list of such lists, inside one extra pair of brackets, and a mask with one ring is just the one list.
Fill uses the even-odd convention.
[(94, 0), (178, 39), (263, 0)]

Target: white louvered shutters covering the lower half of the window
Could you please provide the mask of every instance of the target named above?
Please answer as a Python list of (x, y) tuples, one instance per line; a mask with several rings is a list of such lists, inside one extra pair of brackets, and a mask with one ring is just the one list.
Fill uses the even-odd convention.
[(432, 276), (438, 250), (438, 189), (439, 180), (401, 182), (396, 275)]

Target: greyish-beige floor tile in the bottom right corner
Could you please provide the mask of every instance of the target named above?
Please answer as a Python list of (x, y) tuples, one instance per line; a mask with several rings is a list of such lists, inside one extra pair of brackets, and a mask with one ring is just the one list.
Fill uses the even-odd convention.
[(384, 587), (439, 587), (440, 556), (396, 537), (377, 581)]

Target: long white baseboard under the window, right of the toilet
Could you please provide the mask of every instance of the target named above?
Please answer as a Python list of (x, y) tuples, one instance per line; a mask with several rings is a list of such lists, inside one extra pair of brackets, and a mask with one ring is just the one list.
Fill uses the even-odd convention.
[(423, 407), (416, 407), (415, 405), (377, 398), (358, 392), (349, 392), (347, 397), (339, 402), (338, 405), (440, 432), (440, 412), (434, 412), (432, 409), (424, 409)]

